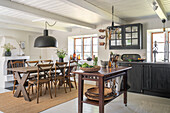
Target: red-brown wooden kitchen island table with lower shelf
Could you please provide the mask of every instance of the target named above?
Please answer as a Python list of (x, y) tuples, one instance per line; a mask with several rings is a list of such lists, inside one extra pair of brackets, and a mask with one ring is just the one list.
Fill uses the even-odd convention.
[[(99, 113), (104, 113), (104, 105), (124, 93), (124, 104), (127, 106), (127, 71), (131, 67), (101, 68), (99, 72), (86, 73), (81, 70), (73, 73), (78, 74), (78, 113), (83, 113), (83, 103), (99, 106)], [(123, 91), (117, 93), (112, 100), (104, 101), (104, 81), (123, 76)], [(83, 99), (84, 80), (96, 81), (99, 83), (99, 102)]]

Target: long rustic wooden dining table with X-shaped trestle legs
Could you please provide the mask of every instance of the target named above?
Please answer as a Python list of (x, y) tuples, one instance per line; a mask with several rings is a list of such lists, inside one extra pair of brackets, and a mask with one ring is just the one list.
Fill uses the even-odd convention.
[[(70, 69), (74, 68), (77, 65), (71, 65)], [(69, 66), (60, 66), (60, 69), (69, 68)], [(42, 68), (43, 70), (49, 70), (49, 68)], [(57, 67), (57, 69), (59, 69)], [(23, 94), (23, 97), (26, 101), (31, 101), (28, 92), (26, 90), (26, 86), (24, 85), (31, 73), (37, 73), (38, 67), (37, 66), (31, 66), (31, 67), (18, 67), (18, 68), (7, 68), (9, 71), (13, 71), (15, 73), (15, 77), (18, 82), (17, 89), (14, 93), (14, 97), (20, 97), (21, 92)], [(52, 67), (52, 70), (55, 70), (55, 66)], [(21, 76), (22, 74), (22, 76)]]

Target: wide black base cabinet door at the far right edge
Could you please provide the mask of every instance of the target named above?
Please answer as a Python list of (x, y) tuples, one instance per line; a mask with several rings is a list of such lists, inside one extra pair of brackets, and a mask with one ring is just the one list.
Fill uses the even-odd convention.
[(152, 66), (152, 90), (170, 92), (170, 68), (162, 65)]

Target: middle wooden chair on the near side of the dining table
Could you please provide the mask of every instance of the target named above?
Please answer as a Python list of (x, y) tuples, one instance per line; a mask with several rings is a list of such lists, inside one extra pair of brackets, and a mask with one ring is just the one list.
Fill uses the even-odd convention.
[[(65, 80), (65, 70), (66, 70), (66, 66), (67, 66), (67, 62), (56, 62), (55, 63), (55, 76), (53, 79), (54, 82), (54, 86), (55, 86), (55, 97), (56, 97), (56, 90), (57, 90), (57, 82), (58, 82), (58, 88), (60, 89), (60, 85), (64, 84), (64, 89), (65, 89), (65, 93), (67, 93), (66, 91), (66, 80)], [(60, 72), (57, 72), (57, 71)]]

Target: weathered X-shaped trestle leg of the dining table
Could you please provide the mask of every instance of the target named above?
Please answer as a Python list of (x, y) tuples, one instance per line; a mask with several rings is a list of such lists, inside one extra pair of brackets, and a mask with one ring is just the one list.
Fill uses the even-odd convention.
[(25, 86), (24, 86), (28, 76), (29, 76), (29, 73), (24, 73), (23, 77), (21, 77), (19, 72), (15, 72), (15, 77), (16, 77), (16, 79), (18, 81), (18, 87), (17, 87), (17, 90), (16, 90), (16, 92), (14, 94), (14, 97), (19, 97), (21, 92), (22, 92), (23, 96), (24, 96), (24, 99), (26, 101), (31, 101), (31, 99), (29, 98), (29, 95), (28, 95), (28, 93), (27, 93), (27, 91), (25, 89)]

